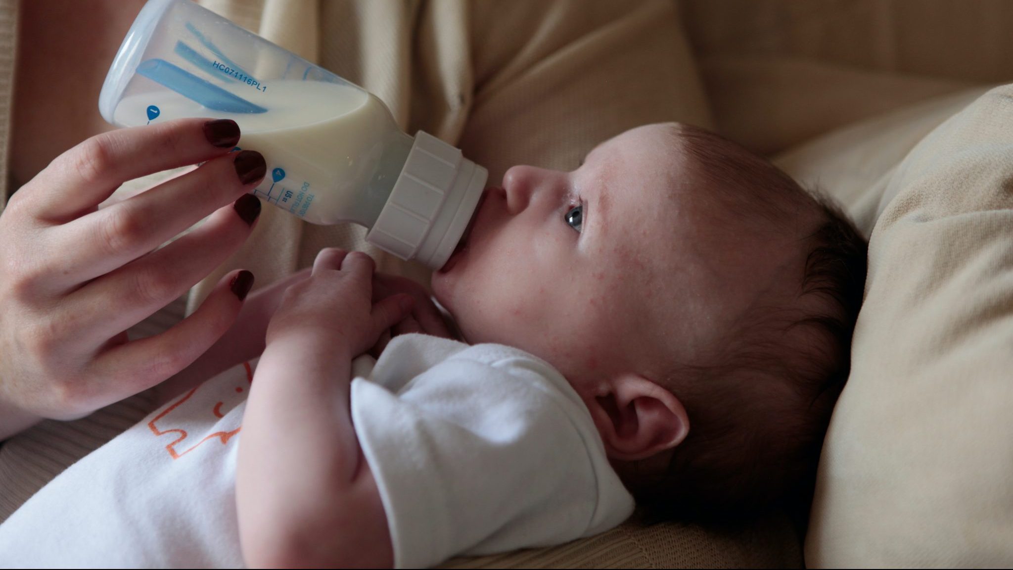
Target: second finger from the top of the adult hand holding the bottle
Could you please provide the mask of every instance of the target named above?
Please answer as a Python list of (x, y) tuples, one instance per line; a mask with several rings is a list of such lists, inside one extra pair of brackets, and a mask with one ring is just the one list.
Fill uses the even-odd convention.
[(248, 192), (265, 171), (263, 156), (244, 150), (53, 228), (51, 246), (67, 261), (54, 268), (52, 286), (74, 287), (151, 252)]

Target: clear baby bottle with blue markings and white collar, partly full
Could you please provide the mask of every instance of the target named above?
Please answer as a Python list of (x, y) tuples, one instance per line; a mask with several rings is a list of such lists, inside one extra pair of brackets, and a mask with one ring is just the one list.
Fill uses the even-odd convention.
[(355, 222), (402, 260), (439, 269), (471, 219), (487, 172), (461, 151), (398, 129), (375, 95), (189, 0), (149, 0), (99, 95), (119, 127), (232, 119), (263, 154), (253, 191), (304, 220)]

